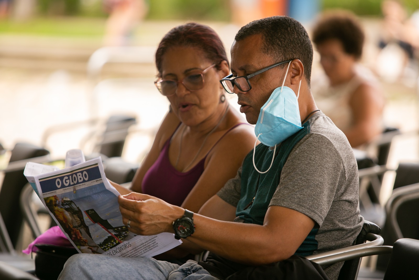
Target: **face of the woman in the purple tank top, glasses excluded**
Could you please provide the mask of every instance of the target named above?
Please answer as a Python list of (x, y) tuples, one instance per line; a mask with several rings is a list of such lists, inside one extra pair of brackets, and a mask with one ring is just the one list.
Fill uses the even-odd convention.
[[(204, 52), (197, 47), (171, 47), (163, 55), (161, 79), (181, 81), (186, 76), (202, 73), (212, 64), (205, 58)], [(228, 73), (224, 72), (218, 71), (215, 66), (209, 68), (203, 74), (204, 86), (194, 91), (178, 83), (176, 92), (167, 98), (179, 120), (187, 126), (196, 126), (215, 115), (220, 105), (222, 90), (220, 79)]]

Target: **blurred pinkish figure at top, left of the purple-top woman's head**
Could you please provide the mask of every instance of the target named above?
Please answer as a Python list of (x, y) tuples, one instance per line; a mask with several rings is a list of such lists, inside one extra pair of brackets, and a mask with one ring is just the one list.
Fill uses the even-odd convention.
[(104, 44), (124, 46), (135, 26), (148, 12), (145, 0), (104, 0), (103, 6), (109, 17), (105, 26)]

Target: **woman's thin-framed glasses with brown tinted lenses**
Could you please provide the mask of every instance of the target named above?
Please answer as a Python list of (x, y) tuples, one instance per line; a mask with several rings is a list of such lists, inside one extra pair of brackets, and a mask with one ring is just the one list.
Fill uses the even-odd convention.
[(204, 87), (204, 74), (209, 69), (214, 67), (215, 64), (212, 64), (207, 69), (202, 71), (201, 73), (194, 73), (189, 76), (184, 77), (183, 79), (176, 81), (176, 80), (157, 80), (154, 82), (157, 89), (161, 94), (164, 96), (172, 95), (176, 92), (178, 88), (178, 84), (183, 84), (186, 89), (190, 91), (202, 89)]

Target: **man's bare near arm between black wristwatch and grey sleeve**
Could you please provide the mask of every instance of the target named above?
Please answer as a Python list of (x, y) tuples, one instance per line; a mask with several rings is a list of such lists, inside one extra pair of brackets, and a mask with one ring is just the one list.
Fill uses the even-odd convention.
[(263, 225), (225, 222), (194, 215), (195, 233), (187, 239), (236, 262), (269, 264), (292, 256), (313, 229), (314, 221), (295, 210), (271, 206)]

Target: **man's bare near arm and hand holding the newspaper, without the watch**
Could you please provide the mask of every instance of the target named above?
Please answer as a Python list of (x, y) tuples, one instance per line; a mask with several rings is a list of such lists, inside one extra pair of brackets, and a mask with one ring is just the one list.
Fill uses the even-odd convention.
[[(215, 197), (209, 201), (202, 211), (216, 207), (215, 202), (219, 199)], [(119, 196), (119, 204), (124, 223), (131, 220), (130, 230), (141, 235), (173, 233), (172, 222), (184, 215), (183, 208), (145, 194)], [(230, 212), (226, 216), (231, 215), (232, 208), (227, 206)], [(216, 220), (199, 214), (194, 214), (194, 224), (195, 233), (187, 238), (188, 241), (220, 256), (251, 265), (287, 259), (314, 227), (314, 221), (308, 216), (280, 206), (268, 208), (263, 225)]]

